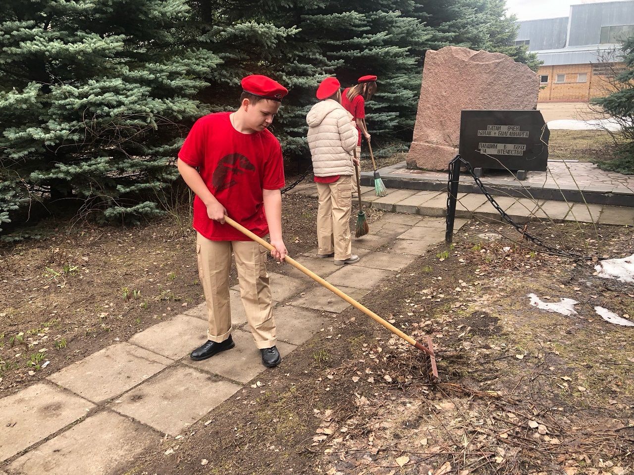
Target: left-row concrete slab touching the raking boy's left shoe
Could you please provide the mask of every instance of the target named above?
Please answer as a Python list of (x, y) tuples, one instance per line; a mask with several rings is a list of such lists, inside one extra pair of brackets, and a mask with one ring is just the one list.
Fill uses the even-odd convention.
[(205, 320), (191, 315), (176, 315), (135, 334), (129, 343), (171, 360), (179, 360), (207, 341), (207, 327)]

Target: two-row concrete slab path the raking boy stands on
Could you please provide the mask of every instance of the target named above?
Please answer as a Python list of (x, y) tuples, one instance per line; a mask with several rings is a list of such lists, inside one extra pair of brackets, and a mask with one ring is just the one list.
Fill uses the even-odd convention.
[[(456, 229), (467, 222), (457, 220)], [(444, 238), (444, 220), (386, 213), (372, 234), (354, 240), (358, 264), (337, 267), (297, 260), (353, 298), (361, 299)], [(297, 269), (269, 274), (283, 356), (289, 356), (349, 305)], [(363, 275), (363, 279), (355, 278)], [(0, 400), (0, 465), (24, 475), (119, 474), (136, 455), (176, 438), (246, 384), (257, 384), (259, 350), (246, 326), (239, 293), (231, 289), (236, 348), (202, 362), (188, 354), (204, 343), (204, 304), (113, 343)], [(200, 397), (199, 395), (204, 395)], [(212, 416), (213, 417), (213, 416)], [(0, 475), (4, 475), (0, 469)]]

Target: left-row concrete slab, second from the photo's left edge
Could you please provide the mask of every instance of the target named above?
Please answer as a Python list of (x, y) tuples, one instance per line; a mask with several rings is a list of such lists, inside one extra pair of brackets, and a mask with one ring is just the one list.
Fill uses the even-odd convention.
[(172, 360), (130, 343), (107, 346), (48, 377), (88, 400), (102, 402), (157, 374)]

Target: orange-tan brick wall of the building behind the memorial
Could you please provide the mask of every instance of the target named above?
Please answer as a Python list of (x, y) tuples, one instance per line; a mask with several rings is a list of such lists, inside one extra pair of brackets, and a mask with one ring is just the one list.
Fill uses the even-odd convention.
[(610, 84), (614, 69), (622, 66), (623, 63), (540, 66), (538, 102), (588, 102), (606, 96), (614, 90)]

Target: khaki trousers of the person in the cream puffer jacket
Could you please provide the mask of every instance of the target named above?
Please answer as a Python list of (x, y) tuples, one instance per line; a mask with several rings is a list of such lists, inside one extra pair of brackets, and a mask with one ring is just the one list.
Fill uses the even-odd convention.
[(318, 253), (335, 253), (335, 260), (352, 256), (350, 212), (353, 206), (352, 177), (341, 175), (334, 183), (318, 183)]

